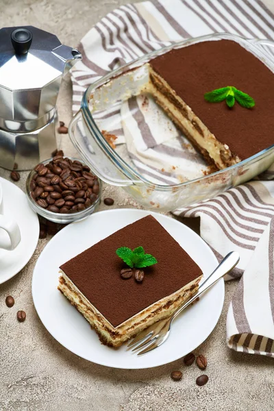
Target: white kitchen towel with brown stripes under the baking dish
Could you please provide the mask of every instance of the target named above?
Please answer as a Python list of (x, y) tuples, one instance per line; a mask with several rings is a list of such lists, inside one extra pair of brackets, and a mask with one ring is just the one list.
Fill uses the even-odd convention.
[[(92, 27), (79, 45), (83, 60), (72, 71), (73, 112), (79, 110), (86, 88), (101, 76), (182, 38), (230, 32), (273, 40), (273, 11), (272, 0), (155, 0), (121, 6)], [(173, 125), (160, 123), (169, 127), (167, 141), (151, 133), (153, 102), (146, 102), (147, 110), (142, 110), (146, 98), (134, 97), (121, 107), (97, 112), (97, 123), (118, 137), (117, 145), (127, 147), (134, 166), (152, 181), (174, 184), (203, 173), (203, 160), (191, 145), (182, 145), (184, 137)], [(130, 127), (121, 121), (121, 110), (127, 112)], [(240, 253), (240, 263), (227, 276), (241, 277), (227, 314), (227, 344), (236, 351), (267, 356), (274, 356), (273, 175), (274, 167), (260, 179), (195, 208), (174, 211), (177, 216), (200, 217), (201, 236), (217, 258), (232, 250)]]

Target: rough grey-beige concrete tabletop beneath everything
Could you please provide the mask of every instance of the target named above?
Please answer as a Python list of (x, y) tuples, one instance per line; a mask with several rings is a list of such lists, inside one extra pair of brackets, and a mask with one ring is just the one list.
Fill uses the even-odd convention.
[[(268, 0), (272, 1), (272, 0)], [(93, 23), (125, 0), (1, 0), (0, 25), (32, 24), (58, 35), (75, 47)], [(58, 101), (60, 119), (71, 119), (71, 84), (66, 77)], [(75, 154), (68, 136), (59, 147)], [(0, 169), (0, 176), (9, 173)], [(18, 186), (24, 188), (26, 173)], [(136, 207), (123, 190), (105, 186), (112, 208)], [(106, 209), (103, 204), (100, 209)], [(225, 317), (236, 282), (226, 284), (223, 314), (214, 332), (195, 352), (208, 358), (209, 382), (195, 385), (197, 366), (182, 360), (148, 370), (108, 369), (64, 349), (38, 319), (32, 302), (32, 272), (49, 238), (39, 240), (29, 264), (0, 286), (0, 410), (1, 411), (271, 411), (274, 407), (273, 360), (235, 353), (225, 345)], [(1, 269), (1, 268), (0, 268)], [(16, 305), (5, 306), (13, 295)], [(25, 323), (16, 311), (25, 310)], [(186, 337), (187, 338), (187, 335)], [(181, 382), (170, 373), (183, 372)]]

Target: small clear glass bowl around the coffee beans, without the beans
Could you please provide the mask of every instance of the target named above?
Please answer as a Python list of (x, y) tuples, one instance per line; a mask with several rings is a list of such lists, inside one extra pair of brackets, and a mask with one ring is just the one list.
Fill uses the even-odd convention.
[[(45, 160), (42, 162), (42, 164), (48, 164), (52, 159), (50, 158), (49, 160)], [(70, 160), (79, 160), (79, 158), (70, 158)], [(82, 162), (85, 164), (84, 162)], [(32, 170), (30, 171), (29, 175), (27, 176), (27, 182), (26, 182), (26, 192), (27, 192), (27, 200), (29, 201), (29, 206), (31, 206), (32, 210), (34, 212), (37, 212), (40, 216), (44, 217), (45, 219), (49, 221), (53, 221), (54, 223), (60, 223), (60, 224), (68, 224), (68, 223), (73, 223), (73, 221), (79, 221), (82, 219), (85, 219), (87, 216), (95, 212), (97, 210), (97, 207), (99, 206), (100, 200), (101, 200), (101, 181), (98, 179), (99, 182), (99, 193), (96, 201), (91, 204), (90, 207), (86, 208), (83, 211), (79, 212), (72, 212), (71, 214), (60, 214), (57, 212), (52, 212), (49, 210), (46, 210), (45, 208), (42, 208), (38, 206), (36, 201), (31, 196), (31, 189), (30, 189), (30, 183), (32, 181), (32, 178), (34, 177), (36, 171)]]

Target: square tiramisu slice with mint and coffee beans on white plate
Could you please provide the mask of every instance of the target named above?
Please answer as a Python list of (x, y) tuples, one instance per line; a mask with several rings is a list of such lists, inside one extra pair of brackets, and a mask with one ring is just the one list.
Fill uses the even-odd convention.
[(195, 294), (202, 276), (153, 216), (86, 249), (60, 266), (60, 274), (59, 290), (110, 347), (171, 315)]

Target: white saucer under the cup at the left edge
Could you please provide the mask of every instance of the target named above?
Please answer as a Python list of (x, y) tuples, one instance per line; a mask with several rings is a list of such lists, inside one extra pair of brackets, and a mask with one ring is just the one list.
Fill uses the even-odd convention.
[(29, 262), (39, 238), (38, 216), (27, 203), (25, 193), (15, 184), (0, 177), (3, 188), (3, 214), (12, 217), (21, 232), (16, 249), (0, 249), (0, 284), (14, 277)]

